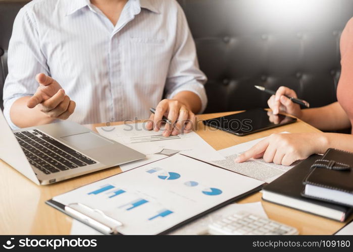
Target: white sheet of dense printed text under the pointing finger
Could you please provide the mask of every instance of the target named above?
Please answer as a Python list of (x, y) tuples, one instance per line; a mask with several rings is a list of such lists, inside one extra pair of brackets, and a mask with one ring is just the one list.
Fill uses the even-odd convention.
[[(288, 132), (282, 132), (281, 134), (287, 134)], [(224, 159), (213, 160), (212, 162), (224, 167), (228, 170), (235, 171), (237, 173), (259, 179), (261, 181), (270, 183), (286, 171), (290, 170), (296, 163), (291, 166), (277, 165), (274, 163), (267, 163), (264, 159), (250, 159), (243, 163), (235, 163), (234, 159), (241, 153), (247, 151), (261, 140), (265, 138), (256, 139), (243, 144), (234, 145), (232, 147), (219, 150)]]

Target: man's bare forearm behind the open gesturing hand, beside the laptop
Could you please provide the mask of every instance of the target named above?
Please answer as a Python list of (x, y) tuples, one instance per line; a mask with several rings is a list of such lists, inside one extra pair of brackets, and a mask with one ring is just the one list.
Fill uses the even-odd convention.
[(26, 128), (34, 125), (51, 123), (55, 120), (55, 118), (47, 116), (36, 107), (28, 108), (27, 101), (30, 98), (30, 96), (21, 97), (12, 104), (10, 117), (15, 125), (20, 128)]

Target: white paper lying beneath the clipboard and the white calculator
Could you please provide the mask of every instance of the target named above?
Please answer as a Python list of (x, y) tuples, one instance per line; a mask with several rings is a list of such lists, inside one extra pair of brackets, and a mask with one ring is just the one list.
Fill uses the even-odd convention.
[[(249, 212), (251, 214), (268, 218), (267, 214), (262, 207), (261, 202), (247, 203), (247, 204), (230, 204), (217, 211), (214, 211), (204, 217), (201, 217), (195, 221), (192, 221), (169, 234), (171, 235), (195, 235), (195, 234), (207, 234), (208, 226), (215, 220), (226, 217), (230, 214), (234, 214), (239, 211)], [(73, 220), (71, 233), (72, 235), (102, 235), (102, 233), (95, 229), (77, 221)]]

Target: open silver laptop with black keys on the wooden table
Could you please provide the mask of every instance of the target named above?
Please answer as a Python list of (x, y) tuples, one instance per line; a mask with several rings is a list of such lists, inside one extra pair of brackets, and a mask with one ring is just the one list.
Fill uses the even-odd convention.
[(12, 131), (1, 109), (0, 136), (0, 159), (42, 185), (145, 158), (67, 120)]

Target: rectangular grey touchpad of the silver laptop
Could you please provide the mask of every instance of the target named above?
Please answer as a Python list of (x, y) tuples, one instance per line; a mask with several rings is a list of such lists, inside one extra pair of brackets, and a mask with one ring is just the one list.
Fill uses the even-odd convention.
[(63, 140), (80, 150), (89, 150), (114, 144), (91, 132), (61, 137)]

